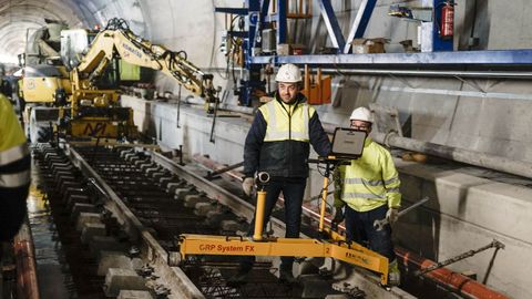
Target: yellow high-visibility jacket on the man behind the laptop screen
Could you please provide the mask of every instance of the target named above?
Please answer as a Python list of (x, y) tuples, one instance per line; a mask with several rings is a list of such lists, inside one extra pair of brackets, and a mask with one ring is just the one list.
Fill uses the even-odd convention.
[(385, 204), (401, 205), (399, 174), (390, 152), (366, 138), (362, 156), (339, 166), (335, 177), (335, 206), (347, 204), (357, 212), (368, 212)]

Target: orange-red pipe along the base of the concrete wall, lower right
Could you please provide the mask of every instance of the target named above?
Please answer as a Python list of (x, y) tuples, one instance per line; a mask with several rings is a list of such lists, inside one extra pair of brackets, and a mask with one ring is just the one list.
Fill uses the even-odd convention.
[[(415, 266), (417, 268), (427, 268), (436, 265), (430, 259), (422, 258), (416, 254), (407, 251), (403, 248), (396, 246), (396, 255), (402, 260), (406, 267)], [(489, 299), (507, 299), (509, 297), (497, 292), (485, 285), (482, 285), (474, 279), (466, 277), (461, 274), (453, 272), (446, 268), (439, 268), (426, 274), (426, 277), (434, 280), (438, 283), (442, 283), (449, 289), (458, 292), (459, 295), (466, 295), (469, 298), (489, 298)]]

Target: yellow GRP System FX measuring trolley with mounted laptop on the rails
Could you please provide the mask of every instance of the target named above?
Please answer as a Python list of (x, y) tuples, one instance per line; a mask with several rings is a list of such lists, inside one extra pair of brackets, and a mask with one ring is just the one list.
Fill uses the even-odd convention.
[(326, 164), (318, 230), (327, 236), (324, 239), (277, 238), (263, 236), (264, 205), (269, 182), (267, 173), (259, 173), (256, 182), (257, 207), (255, 209), (255, 230), (250, 237), (190, 235), (180, 236), (180, 254), (184, 259), (190, 255), (219, 256), (305, 256), (330, 257), (380, 274), (380, 282), (388, 285), (388, 258), (369, 250), (346, 238), (331, 227), (325, 226), (325, 207), (329, 186), (329, 175), (335, 166), (358, 158), (362, 154), (366, 132), (351, 128), (336, 128), (332, 138), (332, 153), (328, 157), (309, 161)]

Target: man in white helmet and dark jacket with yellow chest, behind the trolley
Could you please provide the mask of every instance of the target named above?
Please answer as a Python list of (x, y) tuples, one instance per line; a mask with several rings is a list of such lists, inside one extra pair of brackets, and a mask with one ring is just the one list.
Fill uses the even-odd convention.
[[(320, 156), (330, 152), (330, 142), (315, 109), (306, 103), (301, 89), (301, 73), (294, 64), (279, 68), (275, 78), (275, 99), (260, 106), (249, 128), (244, 146), (244, 183), (246, 195), (252, 194), (254, 175), (266, 172), (270, 182), (266, 186), (264, 224), (269, 219), (280, 193), (285, 199), (286, 237), (298, 238), (301, 204), (308, 177), (310, 144)], [(253, 219), (249, 236), (254, 233)], [(279, 279), (293, 283), (293, 257), (282, 257)], [(245, 282), (254, 257), (243, 257), (238, 274), (229, 283)]]

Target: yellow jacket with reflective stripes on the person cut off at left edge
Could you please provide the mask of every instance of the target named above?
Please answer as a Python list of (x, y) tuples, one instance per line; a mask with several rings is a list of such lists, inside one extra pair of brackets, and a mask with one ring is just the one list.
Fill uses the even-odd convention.
[(30, 183), (30, 153), (13, 107), (0, 94), (0, 188)]

